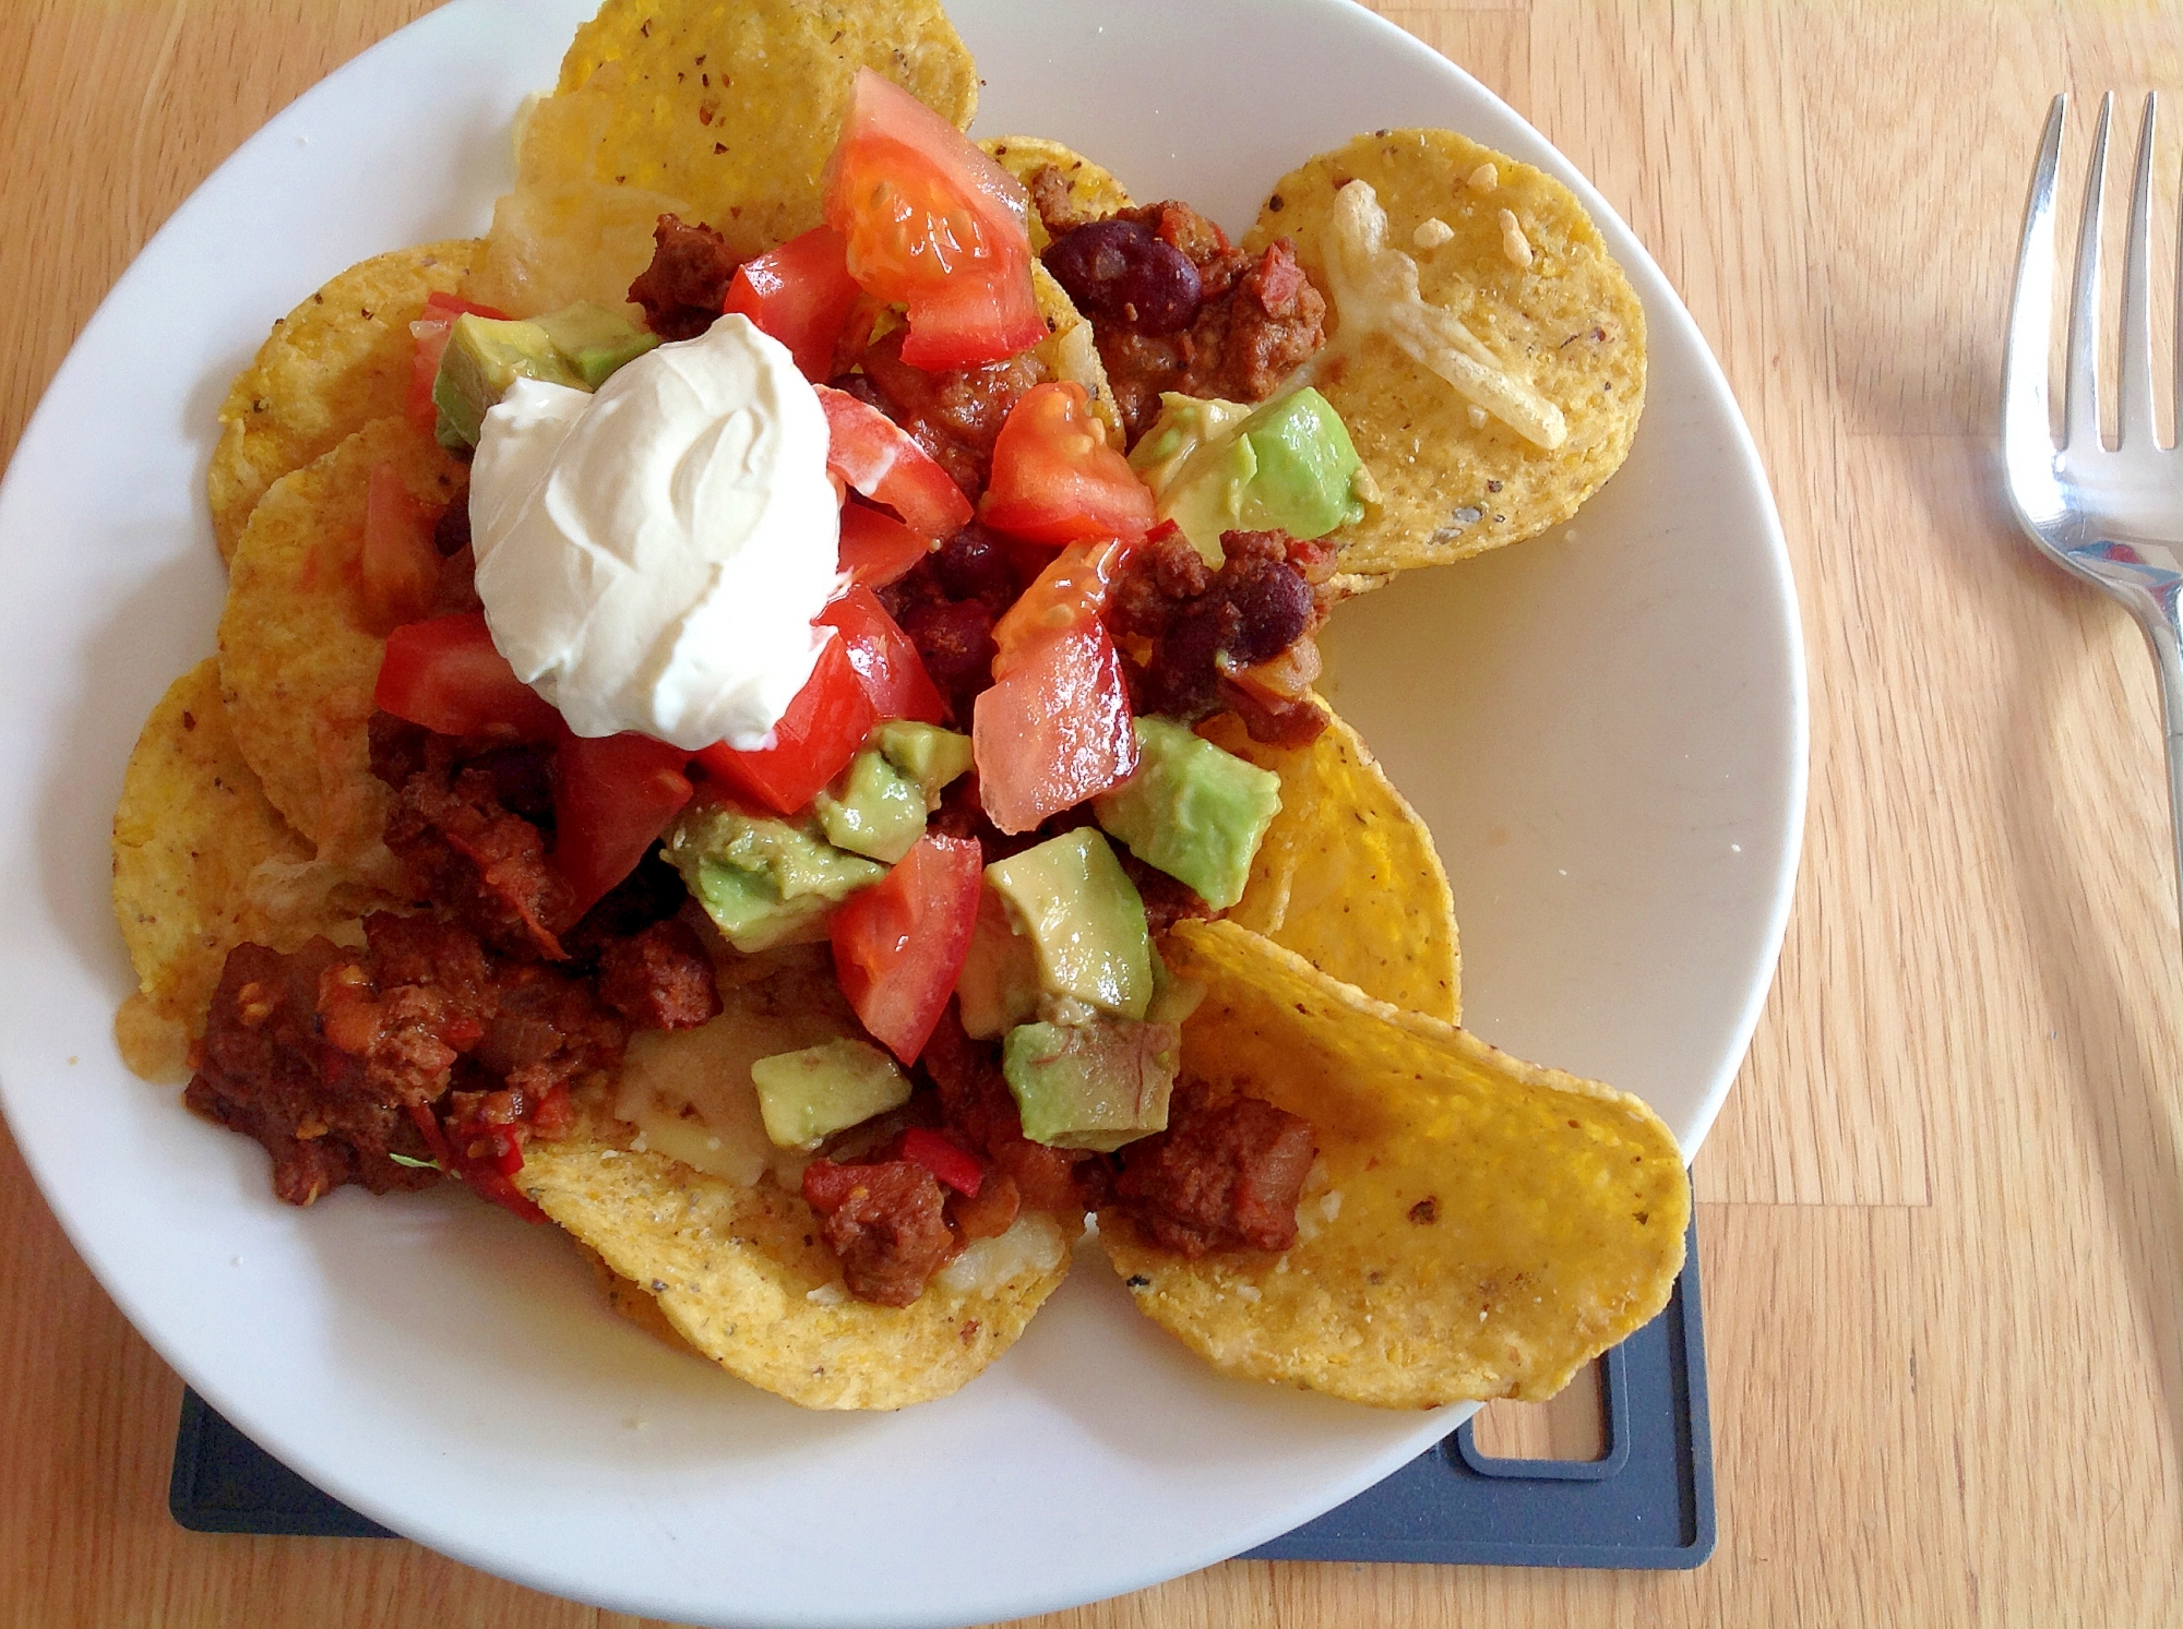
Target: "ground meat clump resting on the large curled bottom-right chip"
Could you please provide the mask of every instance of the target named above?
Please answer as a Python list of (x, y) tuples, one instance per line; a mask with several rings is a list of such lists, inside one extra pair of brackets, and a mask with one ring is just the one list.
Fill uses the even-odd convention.
[(1166, 1249), (1288, 1249), (1316, 1149), (1308, 1120), (1251, 1096), (1174, 1087), (1168, 1129), (1122, 1151), (1122, 1210)]

